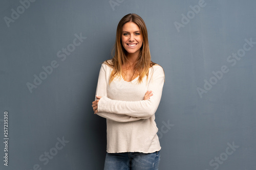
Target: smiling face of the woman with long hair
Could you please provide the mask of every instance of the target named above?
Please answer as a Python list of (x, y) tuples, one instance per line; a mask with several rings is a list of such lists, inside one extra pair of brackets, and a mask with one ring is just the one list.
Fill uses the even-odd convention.
[(134, 22), (127, 22), (122, 28), (122, 45), (128, 54), (140, 53), (142, 45), (142, 35), (140, 28)]

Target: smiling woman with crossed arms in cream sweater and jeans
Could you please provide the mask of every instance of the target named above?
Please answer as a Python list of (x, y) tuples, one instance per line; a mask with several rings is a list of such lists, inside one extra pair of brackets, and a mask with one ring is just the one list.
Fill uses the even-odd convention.
[(105, 170), (158, 169), (155, 112), (163, 84), (164, 71), (151, 61), (143, 19), (125, 15), (117, 26), (115, 55), (101, 65), (92, 105), (106, 118)]

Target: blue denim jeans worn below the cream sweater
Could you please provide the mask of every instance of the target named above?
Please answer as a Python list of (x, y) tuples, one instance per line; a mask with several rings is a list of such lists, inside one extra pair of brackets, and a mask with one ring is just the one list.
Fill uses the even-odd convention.
[(158, 170), (160, 151), (106, 153), (104, 170)]

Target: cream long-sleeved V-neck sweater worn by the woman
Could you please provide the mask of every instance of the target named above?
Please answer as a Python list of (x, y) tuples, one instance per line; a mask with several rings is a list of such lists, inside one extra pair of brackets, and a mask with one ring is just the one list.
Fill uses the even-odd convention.
[[(101, 65), (96, 95), (102, 96), (98, 103), (98, 115), (106, 118), (108, 153), (153, 153), (161, 149), (157, 136), (155, 112), (161, 100), (164, 71), (160, 65), (150, 68), (148, 80), (138, 84), (138, 77), (131, 82), (115, 78), (109, 84), (112, 68)], [(153, 96), (143, 100), (147, 90)], [(96, 98), (95, 98), (96, 100)]]

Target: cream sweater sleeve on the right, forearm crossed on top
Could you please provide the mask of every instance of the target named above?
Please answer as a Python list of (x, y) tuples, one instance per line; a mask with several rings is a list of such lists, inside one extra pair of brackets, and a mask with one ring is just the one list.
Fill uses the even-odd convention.
[(117, 101), (104, 95), (98, 103), (99, 112), (116, 113), (136, 118), (150, 118), (158, 108), (164, 84), (164, 71), (159, 65), (153, 66), (153, 75), (149, 80), (147, 90), (152, 90), (153, 96), (143, 101)]

